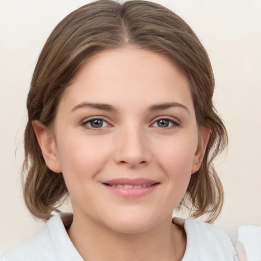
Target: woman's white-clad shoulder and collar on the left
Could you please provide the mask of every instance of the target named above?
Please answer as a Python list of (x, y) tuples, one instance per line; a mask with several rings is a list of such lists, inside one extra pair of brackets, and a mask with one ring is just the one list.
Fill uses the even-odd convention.
[(7, 251), (1, 261), (63, 260), (64, 255), (69, 251), (75, 260), (82, 261), (83, 259), (77, 253), (66, 232), (65, 226), (70, 219), (72, 219), (72, 215), (68, 213), (55, 215), (31, 238)]

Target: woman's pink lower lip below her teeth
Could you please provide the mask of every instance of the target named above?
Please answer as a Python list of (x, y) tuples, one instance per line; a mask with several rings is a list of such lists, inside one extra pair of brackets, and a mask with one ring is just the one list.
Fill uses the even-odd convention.
[(109, 191), (112, 193), (119, 195), (121, 197), (125, 198), (139, 198), (146, 196), (153, 192), (156, 188), (158, 188), (160, 184), (155, 184), (150, 187), (145, 187), (145, 188), (132, 188), (132, 189), (125, 189), (125, 188), (120, 188), (120, 187), (110, 187), (107, 185), (104, 185)]

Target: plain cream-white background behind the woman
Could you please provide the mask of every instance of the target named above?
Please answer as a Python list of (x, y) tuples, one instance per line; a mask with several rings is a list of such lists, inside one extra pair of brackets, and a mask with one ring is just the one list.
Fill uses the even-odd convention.
[[(42, 225), (25, 209), (19, 174), (34, 66), (55, 25), (89, 2), (0, 0), (0, 256)], [(216, 162), (225, 189), (216, 224), (231, 231), (261, 225), (261, 1), (154, 2), (190, 24), (212, 61), (214, 100), (229, 134), (228, 150)]]

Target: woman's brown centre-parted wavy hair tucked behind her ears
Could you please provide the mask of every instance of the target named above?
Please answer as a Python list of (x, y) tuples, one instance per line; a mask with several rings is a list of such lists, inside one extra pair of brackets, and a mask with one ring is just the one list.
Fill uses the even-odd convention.
[(212, 101), (214, 75), (199, 39), (178, 15), (159, 4), (101, 0), (67, 15), (48, 37), (33, 73), (27, 99), (24, 133), (23, 195), (31, 214), (47, 221), (68, 195), (62, 173), (45, 164), (33, 126), (51, 126), (70, 80), (90, 57), (101, 50), (133, 45), (168, 57), (187, 76), (199, 129), (211, 129), (199, 170), (191, 176), (177, 209), (213, 222), (223, 205), (223, 187), (213, 166), (227, 145), (225, 126)]

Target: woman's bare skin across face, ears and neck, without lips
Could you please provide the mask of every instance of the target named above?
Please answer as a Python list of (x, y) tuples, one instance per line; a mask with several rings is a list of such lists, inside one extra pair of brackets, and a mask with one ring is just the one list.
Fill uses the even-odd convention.
[[(172, 211), (209, 131), (199, 132), (189, 82), (173, 63), (133, 46), (102, 51), (72, 79), (54, 126), (33, 126), (47, 166), (64, 175), (74, 214), (68, 234), (85, 260), (181, 260), (186, 234), (171, 223)], [(103, 184), (115, 178), (158, 185), (124, 197)]]

